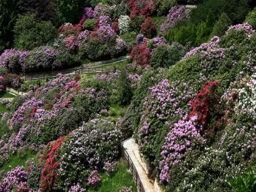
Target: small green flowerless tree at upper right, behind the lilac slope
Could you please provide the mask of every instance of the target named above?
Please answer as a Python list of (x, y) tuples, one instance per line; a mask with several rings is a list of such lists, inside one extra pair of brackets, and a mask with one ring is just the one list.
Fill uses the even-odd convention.
[(226, 13), (222, 13), (218, 21), (214, 24), (212, 36), (223, 36), (231, 25), (232, 21), (228, 18), (228, 15)]

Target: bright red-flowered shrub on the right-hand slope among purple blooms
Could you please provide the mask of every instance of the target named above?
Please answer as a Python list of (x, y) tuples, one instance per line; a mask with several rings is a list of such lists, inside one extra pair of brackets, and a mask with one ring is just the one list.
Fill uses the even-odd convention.
[(216, 127), (221, 125), (219, 120), (220, 99), (218, 96), (218, 82), (205, 83), (203, 90), (197, 94), (194, 100), (191, 100), (190, 104), (192, 110), (189, 113), (189, 117), (197, 116), (197, 121), (203, 126), (203, 133), (206, 131), (206, 135), (210, 135), (210, 133), (217, 131)]

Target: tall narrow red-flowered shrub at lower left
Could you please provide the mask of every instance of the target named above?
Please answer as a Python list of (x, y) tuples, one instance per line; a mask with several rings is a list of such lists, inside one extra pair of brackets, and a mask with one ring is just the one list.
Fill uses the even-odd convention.
[(65, 137), (60, 137), (53, 144), (48, 143), (46, 148), (42, 150), (42, 156), (40, 162), (44, 163), (42, 168), (42, 175), (40, 179), (40, 190), (41, 191), (51, 191), (53, 186), (56, 185), (55, 181), (57, 179), (57, 170), (59, 168), (59, 162), (55, 160), (55, 154), (57, 150), (61, 147), (61, 143)]

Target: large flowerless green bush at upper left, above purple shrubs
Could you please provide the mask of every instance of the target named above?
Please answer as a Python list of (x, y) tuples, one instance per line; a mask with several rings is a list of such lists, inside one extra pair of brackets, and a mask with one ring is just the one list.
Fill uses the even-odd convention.
[(57, 37), (57, 29), (51, 22), (43, 22), (36, 14), (20, 16), (14, 26), (15, 48), (32, 50)]

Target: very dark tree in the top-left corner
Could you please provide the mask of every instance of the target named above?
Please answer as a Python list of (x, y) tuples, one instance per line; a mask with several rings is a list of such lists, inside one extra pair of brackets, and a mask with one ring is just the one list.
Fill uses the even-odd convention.
[(0, 1), (0, 53), (13, 43), (13, 26), (19, 13), (19, 0)]

